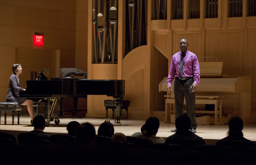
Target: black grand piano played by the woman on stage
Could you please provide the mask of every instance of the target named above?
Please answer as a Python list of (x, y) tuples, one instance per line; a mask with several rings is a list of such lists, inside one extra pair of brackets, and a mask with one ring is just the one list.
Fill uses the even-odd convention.
[[(53, 110), (61, 97), (85, 97), (86, 95), (107, 95), (117, 101), (116, 123), (121, 123), (122, 99), (125, 95), (125, 80), (90, 80), (78, 78), (51, 78), (50, 80), (27, 80), (27, 89), (19, 92), (19, 97), (45, 100), (46, 125), (53, 120)], [(40, 87), (40, 88), (39, 88)], [(40, 90), (39, 90), (40, 89)], [(50, 106), (50, 102), (52, 105)]]

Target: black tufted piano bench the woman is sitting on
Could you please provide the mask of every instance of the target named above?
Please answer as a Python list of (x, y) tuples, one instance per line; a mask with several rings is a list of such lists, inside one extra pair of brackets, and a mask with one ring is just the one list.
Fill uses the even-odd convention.
[[(16, 105), (14, 102), (0, 102), (0, 121), (1, 121), (1, 112), (5, 112), (5, 125), (6, 125), (6, 112), (12, 112), (13, 122), (14, 125), (14, 112), (18, 111), (18, 124), (19, 124), (19, 114), (21, 111), (20, 105)], [(1, 122), (0, 122), (1, 124)]]

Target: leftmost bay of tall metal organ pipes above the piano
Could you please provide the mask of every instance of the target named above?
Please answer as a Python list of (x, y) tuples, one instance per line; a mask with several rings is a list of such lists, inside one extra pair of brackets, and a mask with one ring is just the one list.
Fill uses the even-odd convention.
[[(92, 24), (95, 63), (100, 54), (101, 63), (106, 63), (111, 48), (111, 62), (115, 62), (117, 43), (118, 0), (93, 0)], [(108, 33), (109, 30), (109, 33)], [(110, 47), (108, 47), (110, 43)], [(110, 52), (109, 52), (110, 53)]]

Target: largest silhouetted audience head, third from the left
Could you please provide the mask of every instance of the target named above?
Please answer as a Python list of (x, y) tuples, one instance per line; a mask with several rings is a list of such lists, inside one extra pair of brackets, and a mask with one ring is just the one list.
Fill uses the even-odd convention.
[(75, 142), (79, 146), (94, 147), (95, 144), (95, 129), (91, 123), (82, 123), (77, 127), (75, 133)]

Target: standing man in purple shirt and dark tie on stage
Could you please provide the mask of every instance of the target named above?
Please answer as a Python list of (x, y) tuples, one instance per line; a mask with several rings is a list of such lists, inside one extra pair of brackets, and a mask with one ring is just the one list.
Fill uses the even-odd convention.
[[(170, 93), (171, 82), (174, 81), (175, 120), (183, 115), (184, 96), (187, 105), (187, 116), (190, 118), (190, 130), (196, 133), (197, 121), (195, 119), (195, 90), (200, 81), (200, 69), (197, 56), (187, 50), (189, 42), (183, 38), (179, 41), (180, 52), (171, 58), (171, 66), (167, 79), (167, 89)], [(171, 130), (176, 132), (177, 129)]]

